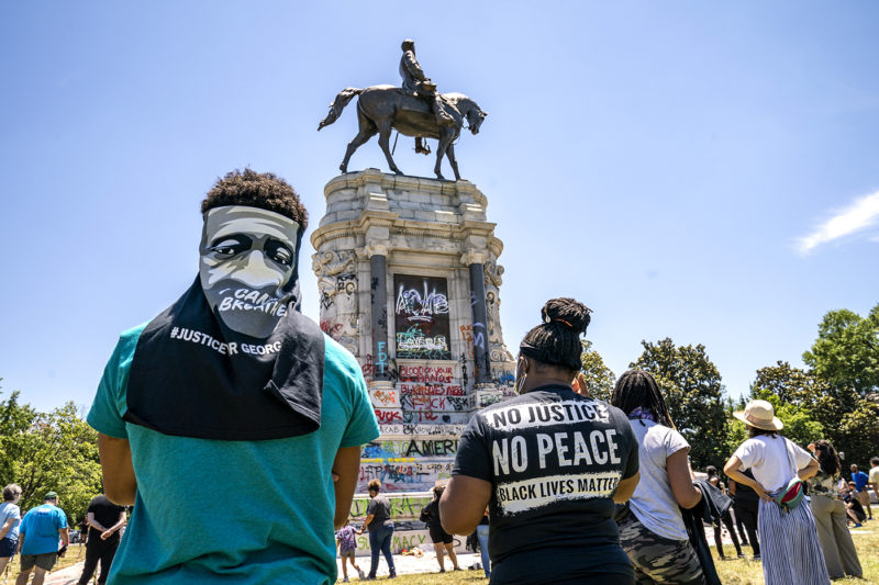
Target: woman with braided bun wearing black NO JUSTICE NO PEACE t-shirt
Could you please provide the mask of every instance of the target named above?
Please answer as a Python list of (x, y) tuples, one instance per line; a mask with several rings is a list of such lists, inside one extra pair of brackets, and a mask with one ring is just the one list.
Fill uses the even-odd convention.
[(488, 504), (493, 584), (634, 583), (613, 513), (637, 485), (637, 442), (619, 408), (571, 387), (589, 313), (548, 301), (519, 347), (519, 396), (460, 437), (439, 516), (469, 535)]

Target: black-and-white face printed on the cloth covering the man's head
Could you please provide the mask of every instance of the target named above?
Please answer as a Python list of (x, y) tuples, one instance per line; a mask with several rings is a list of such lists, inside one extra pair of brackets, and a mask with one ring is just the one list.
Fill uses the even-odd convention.
[(256, 338), (271, 335), (296, 288), (299, 229), (289, 217), (246, 205), (204, 214), (199, 277), (226, 327)]

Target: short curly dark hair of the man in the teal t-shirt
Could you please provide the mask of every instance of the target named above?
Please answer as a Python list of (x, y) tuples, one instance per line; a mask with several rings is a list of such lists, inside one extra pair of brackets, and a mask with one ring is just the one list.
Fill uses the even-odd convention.
[(309, 223), (309, 214), (299, 194), (287, 181), (271, 172), (235, 169), (218, 179), (201, 202), (201, 213), (225, 205), (249, 205), (274, 211), (294, 221), (302, 229)]

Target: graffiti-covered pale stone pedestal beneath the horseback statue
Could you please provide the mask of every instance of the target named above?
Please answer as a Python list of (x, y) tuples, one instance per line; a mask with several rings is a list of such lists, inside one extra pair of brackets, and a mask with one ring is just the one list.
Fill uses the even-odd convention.
[(377, 479), (409, 502), (449, 477), (470, 414), (511, 394), (503, 244), (468, 181), (367, 169), (324, 195), (311, 237), (321, 328), (359, 360), (381, 428), (357, 491)]

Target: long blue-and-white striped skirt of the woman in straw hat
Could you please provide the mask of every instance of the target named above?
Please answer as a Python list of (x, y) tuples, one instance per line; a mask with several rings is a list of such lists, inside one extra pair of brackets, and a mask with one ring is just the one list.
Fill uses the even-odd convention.
[(757, 528), (766, 585), (830, 585), (808, 500), (786, 513), (775, 502), (760, 499)]

